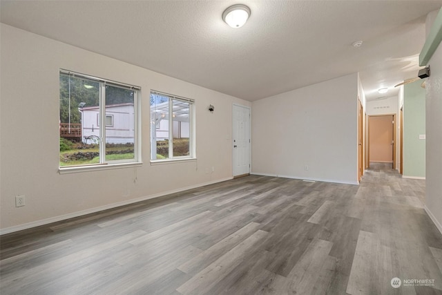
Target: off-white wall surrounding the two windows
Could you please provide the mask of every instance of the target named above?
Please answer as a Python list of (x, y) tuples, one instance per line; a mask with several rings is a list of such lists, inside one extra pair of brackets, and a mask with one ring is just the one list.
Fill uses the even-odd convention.
[[(232, 177), (232, 104), (251, 103), (3, 23), (0, 52), (2, 233)], [(60, 68), (142, 87), (142, 166), (59, 174)], [(195, 99), (198, 161), (149, 163), (151, 89)]]

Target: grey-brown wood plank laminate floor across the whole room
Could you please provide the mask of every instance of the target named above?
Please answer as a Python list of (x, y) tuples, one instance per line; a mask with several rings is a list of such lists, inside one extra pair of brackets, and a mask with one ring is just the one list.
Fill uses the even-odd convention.
[(441, 294), (425, 181), (371, 166), (359, 186), (251, 175), (3, 235), (0, 293)]

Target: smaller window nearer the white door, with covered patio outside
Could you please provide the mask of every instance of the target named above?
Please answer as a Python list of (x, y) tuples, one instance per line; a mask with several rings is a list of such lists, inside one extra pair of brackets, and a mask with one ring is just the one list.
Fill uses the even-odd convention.
[(151, 92), (151, 160), (194, 158), (193, 100)]

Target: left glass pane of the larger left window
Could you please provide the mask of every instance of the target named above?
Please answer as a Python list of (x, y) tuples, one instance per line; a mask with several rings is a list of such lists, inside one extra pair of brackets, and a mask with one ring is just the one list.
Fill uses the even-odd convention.
[(60, 166), (99, 162), (99, 83), (60, 75)]

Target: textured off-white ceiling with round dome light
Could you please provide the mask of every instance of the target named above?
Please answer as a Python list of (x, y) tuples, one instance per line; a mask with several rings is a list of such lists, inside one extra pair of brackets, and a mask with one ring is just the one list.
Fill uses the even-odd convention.
[[(251, 8), (239, 29), (222, 12)], [(416, 77), (441, 1), (5, 1), (1, 22), (250, 101), (359, 72), (367, 99)], [(363, 40), (361, 48), (352, 43)], [(396, 95), (390, 88), (382, 96)]]

